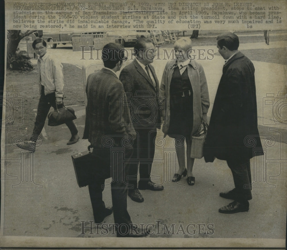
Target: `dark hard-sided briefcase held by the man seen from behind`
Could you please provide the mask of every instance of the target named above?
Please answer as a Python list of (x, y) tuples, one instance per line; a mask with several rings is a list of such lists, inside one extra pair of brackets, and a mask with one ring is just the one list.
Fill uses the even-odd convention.
[(104, 167), (108, 163), (92, 153), (91, 146), (88, 150), (72, 155), (77, 183), (79, 187), (84, 187), (96, 181), (96, 178), (110, 178), (110, 166)]

